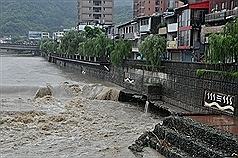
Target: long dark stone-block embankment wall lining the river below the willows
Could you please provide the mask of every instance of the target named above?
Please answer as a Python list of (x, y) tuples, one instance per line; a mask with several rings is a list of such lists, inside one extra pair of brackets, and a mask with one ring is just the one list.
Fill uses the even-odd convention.
[[(138, 94), (145, 94), (145, 84), (160, 83), (162, 100), (187, 111), (221, 112), (209, 107), (212, 106), (226, 110), (226, 114), (238, 116), (238, 78), (224, 77), (219, 73), (204, 73), (202, 76), (196, 74), (197, 69), (228, 71), (231, 69), (229, 65), (225, 67), (205, 63), (163, 61), (162, 64), (165, 66), (163, 72), (152, 72), (138, 68), (137, 65), (140, 65), (141, 61), (126, 61), (121, 68), (115, 68), (112, 65), (97, 65), (95, 62), (93, 64), (78, 62), (78, 59), (75, 61), (46, 54), (43, 56), (57, 65), (113, 82)], [(233, 65), (233, 71), (238, 71), (237, 65)], [(155, 88), (154, 91), (156, 90)], [(212, 103), (214, 105), (211, 105)]]

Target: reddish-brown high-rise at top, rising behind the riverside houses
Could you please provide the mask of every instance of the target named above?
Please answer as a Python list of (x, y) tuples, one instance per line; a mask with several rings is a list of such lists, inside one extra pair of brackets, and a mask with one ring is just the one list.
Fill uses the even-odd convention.
[(162, 14), (168, 8), (175, 8), (183, 5), (179, 0), (134, 0), (133, 16), (150, 16)]

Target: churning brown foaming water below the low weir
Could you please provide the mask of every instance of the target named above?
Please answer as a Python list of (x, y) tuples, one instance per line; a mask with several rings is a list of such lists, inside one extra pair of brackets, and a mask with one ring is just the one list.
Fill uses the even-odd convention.
[(101, 84), (14, 89), (0, 101), (1, 157), (134, 157), (128, 146), (158, 122)]

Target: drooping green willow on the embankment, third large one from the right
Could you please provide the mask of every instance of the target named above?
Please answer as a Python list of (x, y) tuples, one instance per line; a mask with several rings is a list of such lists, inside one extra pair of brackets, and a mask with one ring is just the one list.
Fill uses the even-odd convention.
[(115, 49), (110, 55), (111, 63), (116, 67), (120, 67), (124, 59), (131, 57), (131, 49), (131, 41), (120, 40), (118, 43), (115, 44)]

